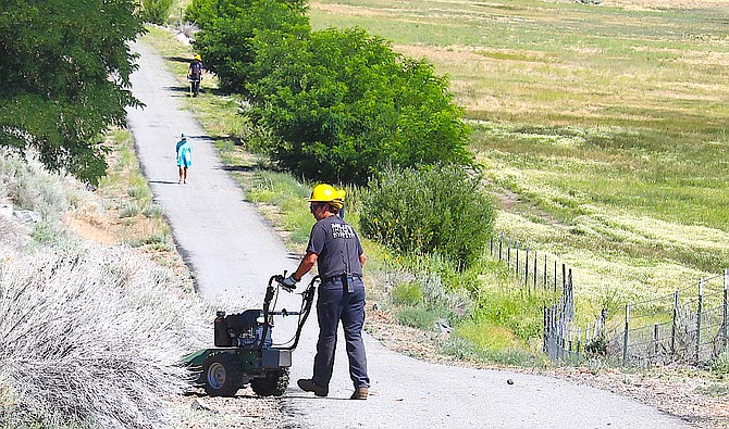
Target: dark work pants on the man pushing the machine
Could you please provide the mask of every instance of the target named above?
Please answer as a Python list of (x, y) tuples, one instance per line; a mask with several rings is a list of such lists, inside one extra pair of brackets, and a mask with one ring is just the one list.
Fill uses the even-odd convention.
[(317, 356), (313, 359), (313, 382), (329, 388), (334, 369), (334, 351), (336, 350), (336, 331), (342, 320), (344, 337), (347, 342), (349, 357), (349, 377), (357, 388), (369, 388), (367, 376), (367, 356), (362, 342), (362, 325), (364, 324), (364, 283), (355, 277), (354, 291), (347, 292), (341, 278), (330, 279), (319, 286), (317, 313), (319, 316), (319, 341)]

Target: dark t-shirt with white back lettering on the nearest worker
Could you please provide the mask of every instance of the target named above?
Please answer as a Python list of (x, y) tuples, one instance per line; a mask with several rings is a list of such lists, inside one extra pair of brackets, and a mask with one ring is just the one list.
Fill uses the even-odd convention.
[(355, 229), (339, 216), (323, 218), (311, 228), (307, 252), (319, 255), (317, 266), (322, 278), (343, 274), (362, 276), (359, 255), (364, 253)]

